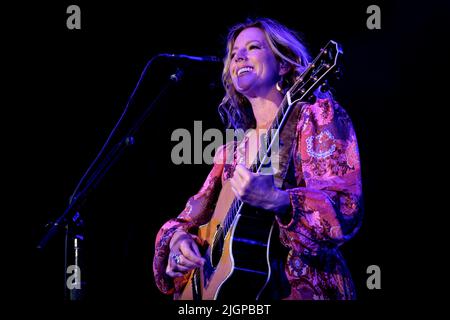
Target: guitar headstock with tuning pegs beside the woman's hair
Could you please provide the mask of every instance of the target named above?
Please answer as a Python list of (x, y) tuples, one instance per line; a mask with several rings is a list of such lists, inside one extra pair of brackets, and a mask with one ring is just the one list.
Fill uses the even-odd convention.
[(340, 45), (330, 40), (320, 49), (317, 57), (308, 65), (297, 78), (294, 85), (287, 91), (286, 97), (289, 105), (299, 101), (306, 101), (319, 86), (326, 83), (332, 75), (339, 75), (339, 63), (343, 51)]

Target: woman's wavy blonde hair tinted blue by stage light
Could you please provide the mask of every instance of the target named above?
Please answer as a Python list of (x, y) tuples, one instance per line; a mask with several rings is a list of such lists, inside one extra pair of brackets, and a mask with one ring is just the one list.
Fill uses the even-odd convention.
[(247, 98), (236, 91), (230, 75), (231, 53), (237, 36), (248, 28), (262, 30), (266, 40), (279, 62), (287, 63), (290, 68), (283, 76), (282, 89), (289, 89), (296, 77), (307, 67), (310, 56), (299, 34), (281, 23), (269, 18), (248, 19), (244, 23), (231, 27), (227, 36), (227, 47), (222, 72), (225, 96), (219, 105), (219, 114), (228, 128), (250, 129), (256, 126), (253, 111)]

